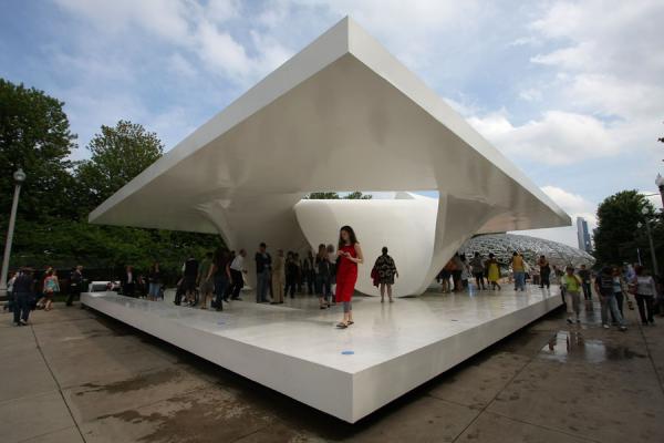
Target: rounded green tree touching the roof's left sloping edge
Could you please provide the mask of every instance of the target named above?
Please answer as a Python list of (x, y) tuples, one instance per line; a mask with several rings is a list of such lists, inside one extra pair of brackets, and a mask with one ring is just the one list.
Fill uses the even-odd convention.
[(91, 157), (79, 165), (77, 177), (86, 193), (83, 207), (90, 212), (156, 162), (164, 145), (156, 133), (121, 120), (102, 126), (87, 150)]

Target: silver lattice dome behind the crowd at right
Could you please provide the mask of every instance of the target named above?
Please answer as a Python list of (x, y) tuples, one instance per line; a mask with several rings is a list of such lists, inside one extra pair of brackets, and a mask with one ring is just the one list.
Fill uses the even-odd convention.
[(589, 268), (594, 265), (594, 257), (590, 254), (563, 245), (558, 241), (544, 240), (543, 238), (529, 237), (515, 234), (487, 234), (474, 237), (466, 241), (459, 248), (459, 253), (466, 254), (468, 258), (473, 257), (475, 251), (487, 257), (489, 253), (494, 253), (498, 261), (508, 264), (511, 260), (512, 253), (517, 250), (530, 266), (539, 256), (547, 257), (551, 265), (566, 267), (572, 265), (578, 268), (580, 265), (585, 265)]

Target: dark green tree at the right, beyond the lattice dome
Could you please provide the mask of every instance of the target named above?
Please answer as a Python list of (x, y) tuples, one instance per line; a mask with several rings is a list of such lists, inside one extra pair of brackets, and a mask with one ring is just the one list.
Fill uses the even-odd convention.
[(635, 261), (636, 248), (643, 243), (637, 224), (645, 219), (644, 208), (649, 219), (656, 218), (653, 205), (637, 190), (622, 190), (600, 204), (594, 233), (594, 254), (600, 264)]

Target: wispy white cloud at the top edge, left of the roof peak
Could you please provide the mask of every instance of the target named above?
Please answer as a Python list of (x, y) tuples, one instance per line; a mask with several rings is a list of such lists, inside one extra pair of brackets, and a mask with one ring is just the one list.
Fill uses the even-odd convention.
[[(251, 29), (252, 39), (240, 42), (230, 32), (228, 22), (239, 19), (239, 1), (216, 0), (198, 4), (186, 0), (55, 0), (65, 10), (85, 20), (96, 39), (116, 41), (132, 31), (144, 32), (178, 49), (173, 69), (190, 75), (183, 52), (198, 58), (211, 73), (226, 76), (246, 86), (283, 63), (292, 51), (278, 41)], [(253, 42), (253, 44), (250, 44)], [(111, 43), (110, 43), (111, 44)]]

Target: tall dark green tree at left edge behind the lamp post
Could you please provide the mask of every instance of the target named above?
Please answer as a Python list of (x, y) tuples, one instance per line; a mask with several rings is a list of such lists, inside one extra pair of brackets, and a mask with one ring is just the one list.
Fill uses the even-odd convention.
[(66, 213), (75, 185), (69, 155), (76, 147), (63, 111), (64, 103), (34, 87), (0, 79), (0, 226), (4, 228), (13, 194), (12, 174), (28, 175), (19, 217), (43, 220)]

